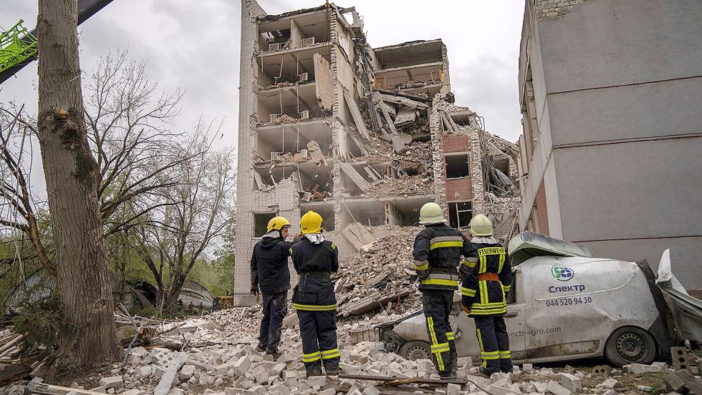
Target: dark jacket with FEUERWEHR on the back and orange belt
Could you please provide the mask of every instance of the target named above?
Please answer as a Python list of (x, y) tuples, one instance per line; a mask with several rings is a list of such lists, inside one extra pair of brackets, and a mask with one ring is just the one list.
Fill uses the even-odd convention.
[[(471, 316), (499, 316), (507, 312), (505, 294), (512, 284), (511, 259), (501, 244), (474, 244), (478, 262), (463, 278), (462, 304), (471, 310)], [(483, 281), (478, 276), (494, 273), (499, 281)]]

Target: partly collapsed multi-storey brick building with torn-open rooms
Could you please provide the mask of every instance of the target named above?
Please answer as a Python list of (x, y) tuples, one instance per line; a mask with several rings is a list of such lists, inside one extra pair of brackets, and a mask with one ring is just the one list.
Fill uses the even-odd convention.
[[(324, 217), (341, 261), (436, 201), (452, 226), (486, 213), (515, 228), (515, 144), (453, 104), (441, 39), (373, 49), (356, 9), (268, 15), (242, 1), (234, 303), (273, 216)], [(359, 268), (362, 270), (362, 268)]]

